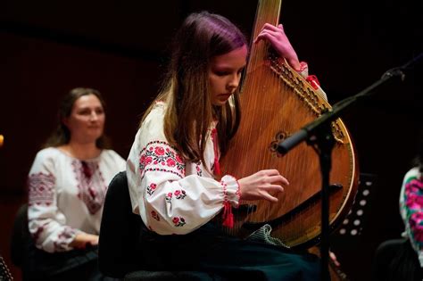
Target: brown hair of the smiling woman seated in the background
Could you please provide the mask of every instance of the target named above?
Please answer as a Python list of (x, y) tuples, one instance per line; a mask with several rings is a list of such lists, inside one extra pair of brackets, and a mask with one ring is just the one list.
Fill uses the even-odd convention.
[[(102, 103), (104, 112), (105, 112), (105, 102), (103, 95), (89, 87), (76, 87), (71, 89), (68, 95), (63, 96), (62, 101), (59, 105), (59, 112), (58, 112), (58, 125), (55, 131), (46, 141), (46, 144), (43, 147), (57, 147), (60, 145), (66, 145), (71, 140), (71, 131), (66, 125), (63, 124), (63, 120), (69, 116), (71, 116), (73, 104), (79, 99), (79, 97), (83, 95), (95, 95), (100, 103)], [(110, 140), (104, 134), (97, 138), (95, 141), (95, 145), (100, 148), (111, 148)]]

